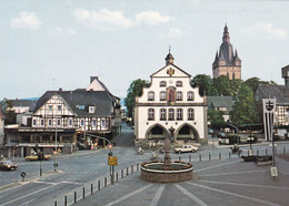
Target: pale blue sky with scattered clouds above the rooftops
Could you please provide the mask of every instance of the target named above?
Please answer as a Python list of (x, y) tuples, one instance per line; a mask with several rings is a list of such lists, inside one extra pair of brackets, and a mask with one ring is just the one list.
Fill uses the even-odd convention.
[(283, 84), (289, 1), (0, 0), (0, 100), (84, 89), (99, 76), (126, 97), (133, 80), (166, 65), (212, 76), (228, 24), (242, 80)]

